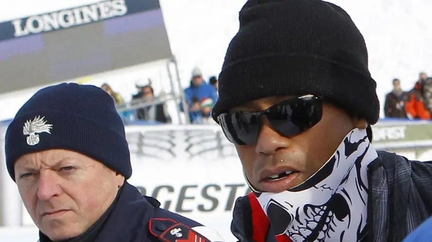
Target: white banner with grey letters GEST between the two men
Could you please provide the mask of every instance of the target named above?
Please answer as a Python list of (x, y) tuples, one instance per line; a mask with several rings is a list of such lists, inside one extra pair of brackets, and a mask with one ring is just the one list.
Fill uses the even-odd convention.
[(130, 184), (160, 207), (217, 230), (225, 241), (235, 200), (249, 191), (234, 146), (219, 126), (127, 127)]

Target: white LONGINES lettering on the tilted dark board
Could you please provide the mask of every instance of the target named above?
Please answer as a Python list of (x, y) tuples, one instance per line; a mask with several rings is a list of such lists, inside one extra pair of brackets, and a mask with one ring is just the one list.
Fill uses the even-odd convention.
[(125, 0), (111, 0), (79, 8), (30, 16), (24, 18), (25, 23), (23, 23), (22, 18), (15, 19), (11, 23), (15, 29), (14, 36), (19, 37), (89, 24), (106, 18), (122, 16), (127, 12), (128, 7)]

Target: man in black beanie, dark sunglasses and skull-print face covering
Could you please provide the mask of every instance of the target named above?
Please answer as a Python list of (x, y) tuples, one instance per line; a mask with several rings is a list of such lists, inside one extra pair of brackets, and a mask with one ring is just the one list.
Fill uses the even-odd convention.
[(249, 0), (212, 117), (253, 190), (240, 241), (401, 241), (432, 213), (432, 164), (376, 151), (375, 81), (362, 34), (320, 0)]

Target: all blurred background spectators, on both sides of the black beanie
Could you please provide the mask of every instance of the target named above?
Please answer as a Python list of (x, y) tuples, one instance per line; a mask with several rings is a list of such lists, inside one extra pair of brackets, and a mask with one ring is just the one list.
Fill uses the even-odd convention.
[[(393, 90), (386, 94), (384, 115), (386, 118), (431, 119), (432, 116), (432, 77), (421, 72), (411, 90), (404, 91), (401, 80), (392, 80)], [(167, 112), (166, 102), (156, 96), (151, 80), (136, 83), (137, 93), (127, 104), (122, 96), (103, 84), (102, 89), (115, 100), (119, 113), (124, 120), (138, 120), (159, 124), (170, 124), (171, 117)], [(201, 70), (195, 67), (191, 73), (189, 87), (184, 90), (186, 105), (179, 103), (179, 109), (189, 115), (191, 124), (215, 124), (211, 118), (211, 109), (218, 99), (218, 79), (211, 76), (204, 79)], [(134, 106), (136, 108), (127, 108)], [(187, 108), (187, 110), (185, 110)]]

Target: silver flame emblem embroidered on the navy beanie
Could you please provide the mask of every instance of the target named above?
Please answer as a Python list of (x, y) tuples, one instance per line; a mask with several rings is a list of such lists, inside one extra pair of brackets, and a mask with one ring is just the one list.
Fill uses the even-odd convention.
[(39, 137), (40, 133), (48, 133), (51, 134), (52, 125), (47, 124), (45, 117), (37, 116), (34, 117), (33, 120), (27, 120), (23, 127), (23, 134), (28, 135), (26, 138), (27, 145), (35, 146), (39, 144), (41, 138)]

